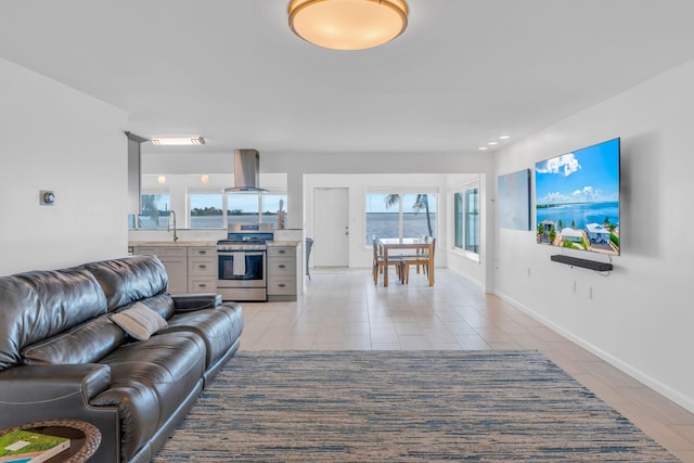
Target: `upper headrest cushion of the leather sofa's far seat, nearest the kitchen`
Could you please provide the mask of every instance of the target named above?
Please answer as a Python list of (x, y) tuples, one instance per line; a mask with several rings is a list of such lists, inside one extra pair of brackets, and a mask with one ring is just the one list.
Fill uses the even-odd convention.
[(156, 256), (130, 256), (81, 265), (101, 284), (108, 310), (166, 293), (168, 275)]

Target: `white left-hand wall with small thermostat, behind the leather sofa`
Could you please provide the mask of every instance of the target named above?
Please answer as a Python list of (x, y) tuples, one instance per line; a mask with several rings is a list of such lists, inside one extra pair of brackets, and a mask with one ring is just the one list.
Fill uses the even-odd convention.
[(0, 101), (0, 274), (125, 255), (125, 112), (2, 59)]

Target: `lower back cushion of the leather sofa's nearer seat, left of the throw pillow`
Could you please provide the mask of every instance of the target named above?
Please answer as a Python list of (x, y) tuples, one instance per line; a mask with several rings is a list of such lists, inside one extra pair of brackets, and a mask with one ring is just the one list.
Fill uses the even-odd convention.
[(95, 363), (125, 340), (123, 330), (107, 316), (101, 316), (25, 347), (22, 359), (25, 364)]

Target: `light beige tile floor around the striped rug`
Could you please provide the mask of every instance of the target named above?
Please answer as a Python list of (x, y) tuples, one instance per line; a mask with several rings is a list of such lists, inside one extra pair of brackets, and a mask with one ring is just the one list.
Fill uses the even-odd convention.
[(295, 303), (243, 303), (242, 350), (538, 349), (684, 462), (694, 414), (446, 269), (373, 284), (365, 269), (311, 270)]

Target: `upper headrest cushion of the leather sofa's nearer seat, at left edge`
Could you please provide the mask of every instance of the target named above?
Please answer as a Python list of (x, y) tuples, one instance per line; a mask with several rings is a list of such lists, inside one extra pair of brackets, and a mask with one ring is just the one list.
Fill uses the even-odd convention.
[(23, 348), (104, 313), (101, 285), (79, 268), (0, 276), (0, 370), (22, 363)]

